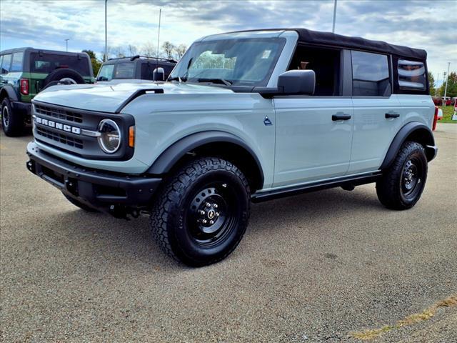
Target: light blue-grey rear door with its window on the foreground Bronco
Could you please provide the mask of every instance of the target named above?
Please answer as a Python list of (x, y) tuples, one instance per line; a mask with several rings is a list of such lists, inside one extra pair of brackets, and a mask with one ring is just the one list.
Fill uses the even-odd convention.
[(381, 166), (401, 127), (400, 102), (392, 94), (389, 55), (351, 51), (348, 56), (351, 56), (354, 111), (348, 174), (372, 172)]

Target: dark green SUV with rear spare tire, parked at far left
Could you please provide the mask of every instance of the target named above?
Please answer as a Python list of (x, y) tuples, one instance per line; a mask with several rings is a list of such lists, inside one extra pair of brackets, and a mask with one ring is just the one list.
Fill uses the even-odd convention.
[(17, 136), (31, 122), (31, 99), (51, 84), (94, 83), (91, 59), (85, 52), (18, 48), (0, 52), (1, 126)]

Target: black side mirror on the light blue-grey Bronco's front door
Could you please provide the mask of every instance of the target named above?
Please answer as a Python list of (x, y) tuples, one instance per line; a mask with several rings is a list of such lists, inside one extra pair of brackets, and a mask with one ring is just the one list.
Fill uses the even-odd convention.
[(313, 70), (289, 70), (278, 77), (278, 91), (283, 94), (313, 95), (315, 86)]

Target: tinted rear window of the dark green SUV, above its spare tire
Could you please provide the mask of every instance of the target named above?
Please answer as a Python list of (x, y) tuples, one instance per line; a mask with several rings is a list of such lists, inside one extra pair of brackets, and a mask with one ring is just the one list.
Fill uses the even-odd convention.
[(89, 62), (85, 57), (64, 56), (58, 54), (42, 54), (36, 52), (30, 54), (30, 71), (33, 73), (49, 74), (58, 68), (70, 68), (83, 76), (90, 76)]

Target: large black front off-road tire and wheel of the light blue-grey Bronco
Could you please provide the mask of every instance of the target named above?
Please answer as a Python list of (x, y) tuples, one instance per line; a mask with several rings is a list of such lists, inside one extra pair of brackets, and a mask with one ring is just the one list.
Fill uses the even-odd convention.
[[(219, 238), (217, 232), (205, 232), (213, 226), (201, 224), (203, 219), (210, 222), (216, 202), (221, 202), (215, 207), (221, 217), (218, 212), (214, 226), (226, 230), (219, 232)], [(201, 214), (206, 209), (208, 218)], [(250, 189), (243, 173), (229, 161), (204, 157), (182, 166), (164, 184), (155, 199), (150, 224), (154, 239), (166, 254), (191, 267), (202, 267), (233, 252), (246, 232), (249, 209)], [(210, 237), (209, 243), (206, 237)]]

